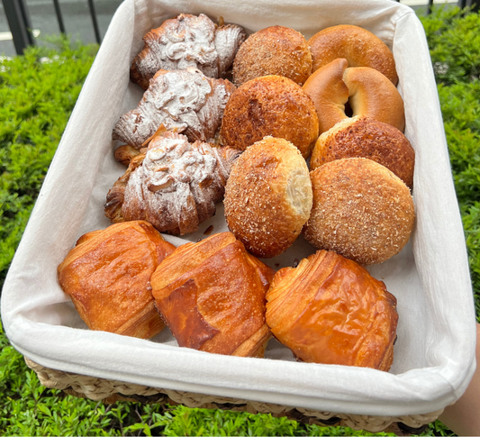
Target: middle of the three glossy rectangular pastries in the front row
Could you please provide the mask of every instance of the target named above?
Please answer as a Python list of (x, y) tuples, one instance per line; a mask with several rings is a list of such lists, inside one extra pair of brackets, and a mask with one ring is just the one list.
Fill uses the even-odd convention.
[(261, 357), (270, 338), (265, 293), (274, 274), (222, 232), (179, 246), (158, 266), (151, 287), (179, 346)]

